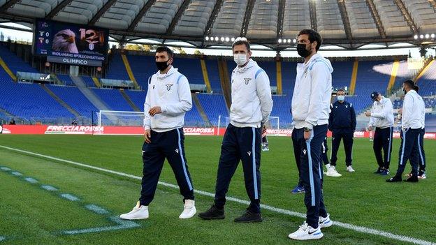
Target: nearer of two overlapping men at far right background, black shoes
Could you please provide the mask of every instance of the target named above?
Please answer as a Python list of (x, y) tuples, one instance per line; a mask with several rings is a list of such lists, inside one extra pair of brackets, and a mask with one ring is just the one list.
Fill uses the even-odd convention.
[(416, 93), (418, 87), (412, 80), (402, 83), (402, 90), (405, 92), (404, 103), (402, 104), (402, 126), (401, 145), (399, 152), (398, 170), (394, 177), (386, 179), (387, 182), (401, 181), (407, 160), (412, 165), (412, 176), (405, 179), (407, 182), (418, 182), (419, 165), (419, 134), (422, 131), (422, 107), (423, 99)]

